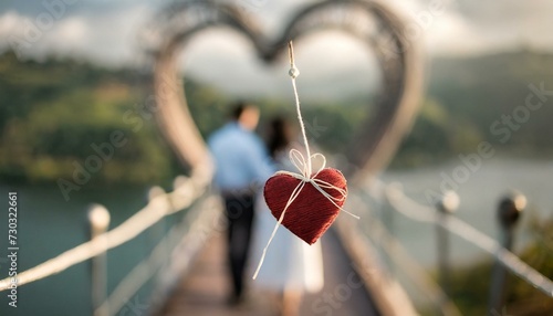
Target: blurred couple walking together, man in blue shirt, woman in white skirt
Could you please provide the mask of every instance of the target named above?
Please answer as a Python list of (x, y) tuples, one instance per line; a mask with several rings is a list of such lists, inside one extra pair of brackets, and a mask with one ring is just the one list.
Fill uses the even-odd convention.
[[(215, 185), (225, 200), (228, 219), (228, 262), (233, 291), (229, 303), (232, 305), (244, 301), (244, 285), (251, 281), (276, 224), (263, 198), (264, 182), (278, 170), (298, 172), (288, 158), (293, 148), (288, 120), (271, 119), (263, 143), (254, 133), (259, 116), (254, 105), (238, 103), (231, 120), (208, 140), (216, 165)], [(322, 265), (319, 242), (310, 246), (280, 227), (251, 286), (262, 289), (257, 293), (275, 297), (281, 315), (299, 315), (302, 295), (323, 287)]]

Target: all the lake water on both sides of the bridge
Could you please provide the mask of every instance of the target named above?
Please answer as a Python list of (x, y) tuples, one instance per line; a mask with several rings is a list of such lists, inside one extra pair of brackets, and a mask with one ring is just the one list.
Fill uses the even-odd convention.
[[(441, 172), (451, 175), (459, 161), (438, 167), (408, 171), (387, 171), (382, 175), (385, 182), (401, 182), (407, 196), (427, 203), (425, 191), (439, 191)], [(456, 213), (478, 230), (495, 238), (498, 227), (495, 211), (499, 199), (510, 189), (523, 192), (529, 201), (520, 229), (523, 232), (530, 213), (541, 217), (553, 215), (553, 162), (517, 161), (491, 159), (483, 161), (480, 169), (471, 172), (459, 185), (461, 204)], [(19, 194), (20, 246), (19, 271), (32, 267), (61, 252), (87, 240), (85, 211), (90, 203), (97, 202), (112, 212), (111, 227), (131, 217), (145, 204), (146, 188), (143, 187), (83, 187), (65, 201), (55, 183), (41, 186), (0, 185), (0, 206), (3, 206), (0, 223), (1, 277), (7, 276), (7, 222), (8, 191)], [(424, 265), (431, 267), (435, 262), (435, 228), (418, 223), (396, 214), (394, 232), (407, 251)], [(153, 232), (146, 231), (132, 243), (109, 252), (109, 288), (128, 273), (154, 245)], [(458, 239), (451, 239), (452, 257), (456, 263), (471, 262), (486, 254), (478, 247)], [(488, 256), (489, 257), (489, 256)], [(19, 288), (19, 307), (8, 306), (6, 292), (0, 295), (0, 315), (90, 315), (90, 265), (82, 263), (62, 274), (38, 281)], [(139, 294), (138, 302), (146, 302), (147, 294)], [(15, 313), (14, 313), (15, 312)]]

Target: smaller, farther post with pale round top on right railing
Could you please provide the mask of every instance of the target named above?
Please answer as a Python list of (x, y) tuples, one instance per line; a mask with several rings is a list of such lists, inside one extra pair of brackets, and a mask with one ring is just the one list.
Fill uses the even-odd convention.
[(441, 297), (441, 304), (449, 302), (448, 297), (451, 295), (451, 264), (449, 262), (449, 231), (446, 229), (449, 217), (459, 208), (459, 196), (455, 191), (447, 191), (441, 200), (436, 204), (437, 221), (436, 221), (436, 242), (438, 246), (438, 280), (439, 284), (446, 294)]

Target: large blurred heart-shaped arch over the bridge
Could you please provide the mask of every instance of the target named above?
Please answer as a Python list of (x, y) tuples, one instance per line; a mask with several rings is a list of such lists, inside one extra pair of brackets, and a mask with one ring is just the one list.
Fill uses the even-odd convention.
[[(239, 8), (212, 1), (175, 4), (159, 17), (150, 38), (154, 51), (154, 87), (157, 117), (165, 136), (179, 158), (192, 168), (206, 161), (207, 148), (190, 116), (184, 86), (177, 76), (176, 60), (187, 40), (208, 28), (226, 25), (248, 38), (260, 57), (270, 62), (283, 53), (286, 43), (327, 28), (354, 35), (373, 50), (383, 67), (383, 89), (376, 112), (362, 124), (346, 152), (351, 166), (345, 173), (361, 180), (384, 168), (415, 118), (422, 89), (421, 54), (414, 41), (404, 38), (405, 22), (389, 8), (364, 0), (327, 0), (298, 12), (274, 42), (267, 41)], [(159, 22), (159, 21), (163, 21)], [(367, 101), (368, 102), (368, 101)], [(349, 167), (351, 167), (349, 166)]]

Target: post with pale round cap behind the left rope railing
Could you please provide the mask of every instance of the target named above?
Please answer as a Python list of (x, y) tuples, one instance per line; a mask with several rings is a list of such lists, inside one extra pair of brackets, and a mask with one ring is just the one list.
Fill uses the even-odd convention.
[[(109, 211), (104, 206), (92, 204), (87, 211), (87, 220), (90, 223), (91, 240), (106, 232), (109, 225)], [(96, 314), (100, 310), (107, 297), (107, 267), (106, 253), (98, 254), (91, 259), (91, 292), (92, 292), (92, 312), (94, 316), (104, 316), (104, 312)]]

